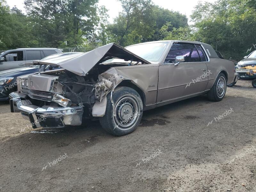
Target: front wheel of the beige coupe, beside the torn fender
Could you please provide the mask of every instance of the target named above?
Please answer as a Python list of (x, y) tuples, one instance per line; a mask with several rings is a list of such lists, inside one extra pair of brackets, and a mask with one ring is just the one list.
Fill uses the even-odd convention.
[[(107, 108), (104, 117), (100, 117), (103, 129), (115, 136), (133, 132), (140, 124), (143, 103), (138, 92), (130, 87), (118, 87), (107, 96)], [(113, 110), (114, 106), (114, 110)]]

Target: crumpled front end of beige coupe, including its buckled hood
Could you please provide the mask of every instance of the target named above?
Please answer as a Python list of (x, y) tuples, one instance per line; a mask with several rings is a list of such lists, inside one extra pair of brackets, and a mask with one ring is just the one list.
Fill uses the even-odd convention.
[[(110, 59), (125, 62), (105, 63)], [(128, 62), (128, 63), (127, 63)], [(48, 57), (35, 65), (61, 69), (18, 77), (18, 92), (10, 94), (11, 111), (21, 112), (33, 128), (81, 125), (83, 119), (103, 117), (107, 95), (127, 79), (117, 67), (150, 62), (114, 43), (91, 52)]]

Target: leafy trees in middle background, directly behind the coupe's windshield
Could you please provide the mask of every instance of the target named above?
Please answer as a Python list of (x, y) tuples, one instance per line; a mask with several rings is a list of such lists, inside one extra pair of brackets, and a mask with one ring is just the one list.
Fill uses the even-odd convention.
[(135, 43), (162, 40), (161, 28), (166, 22), (172, 27), (187, 27), (188, 19), (179, 12), (163, 9), (151, 0), (120, 0), (123, 12), (108, 26), (111, 39), (126, 46)]

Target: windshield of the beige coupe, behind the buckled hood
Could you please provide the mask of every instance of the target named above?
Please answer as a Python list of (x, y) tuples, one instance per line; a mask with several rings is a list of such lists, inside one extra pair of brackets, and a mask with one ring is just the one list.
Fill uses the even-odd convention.
[[(138, 44), (126, 47), (128, 51), (138, 55), (139, 57), (149, 61), (157, 62), (162, 57), (168, 42), (163, 43), (148, 43), (148, 44)], [(131, 61), (124, 61), (122, 59), (109, 59), (103, 63), (130, 63)], [(136, 63), (136, 62), (132, 62)]]

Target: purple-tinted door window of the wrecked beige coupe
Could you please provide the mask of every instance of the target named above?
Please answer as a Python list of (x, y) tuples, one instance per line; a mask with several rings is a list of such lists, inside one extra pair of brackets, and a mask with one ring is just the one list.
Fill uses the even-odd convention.
[(176, 63), (177, 56), (185, 57), (185, 62), (201, 62), (201, 58), (194, 44), (173, 43), (164, 63)]

